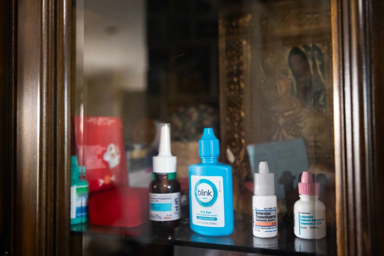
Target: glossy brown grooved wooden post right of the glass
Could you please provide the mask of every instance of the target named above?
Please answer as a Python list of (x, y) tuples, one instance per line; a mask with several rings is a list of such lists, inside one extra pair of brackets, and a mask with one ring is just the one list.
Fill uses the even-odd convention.
[(384, 216), (383, 7), (378, 0), (332, 1), (339, 255), (379, 255), (384, 250), (379, 242)]

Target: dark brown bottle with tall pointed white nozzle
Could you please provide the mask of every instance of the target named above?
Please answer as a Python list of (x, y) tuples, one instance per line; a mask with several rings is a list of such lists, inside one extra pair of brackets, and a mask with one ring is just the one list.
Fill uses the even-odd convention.
[(153, 158), (153, 172), (154, 179), (149, 185), (149, 219), (155, 228), (170, 230), (180, 224), (181, 208), (169, 124), (160, 124), (159, 155)]

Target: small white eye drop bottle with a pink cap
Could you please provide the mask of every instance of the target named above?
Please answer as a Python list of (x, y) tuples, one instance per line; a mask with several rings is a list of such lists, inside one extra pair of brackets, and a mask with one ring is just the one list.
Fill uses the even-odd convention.
[(293, 205), (295, 235), (304, 239), (325, 237), (325, 205), (319, 200), (320, 184), (310, 171), (303, 171), (298, 187), (300, 199)]

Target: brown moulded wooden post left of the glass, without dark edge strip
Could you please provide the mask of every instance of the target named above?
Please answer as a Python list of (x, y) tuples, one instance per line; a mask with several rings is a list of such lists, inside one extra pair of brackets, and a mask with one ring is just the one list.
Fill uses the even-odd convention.
[(17, 3), (13, 251), (67, 255), (71, 1)]

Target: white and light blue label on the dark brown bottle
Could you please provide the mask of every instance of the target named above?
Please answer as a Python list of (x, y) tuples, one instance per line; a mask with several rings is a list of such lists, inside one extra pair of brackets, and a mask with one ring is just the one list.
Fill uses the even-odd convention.
[(149, 219), (151, 221), (180, 219), (180, 192), (149, 193)]

